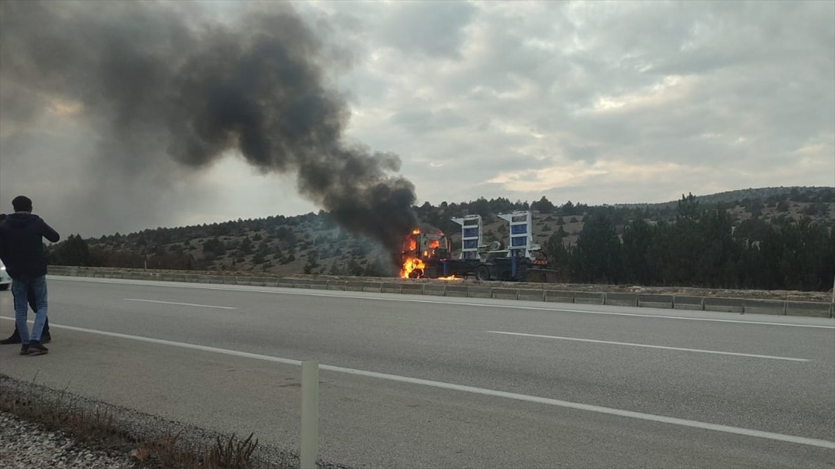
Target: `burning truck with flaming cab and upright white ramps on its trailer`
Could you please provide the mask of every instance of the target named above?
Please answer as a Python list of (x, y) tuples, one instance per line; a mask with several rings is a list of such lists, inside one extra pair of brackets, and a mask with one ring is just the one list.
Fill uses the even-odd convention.
[(414, 229), (402, 246), (400, 276), (410, 279), (466, 279), (524, 281), (543, 274), (548, 265), (537, 255), (529, 211), (499, 214), (509, 222), (509, 243), (483, 243), (481, 215), (453, 218), (461, 225), (461, 251), (453, 259), (452, 241), (438, 229)]

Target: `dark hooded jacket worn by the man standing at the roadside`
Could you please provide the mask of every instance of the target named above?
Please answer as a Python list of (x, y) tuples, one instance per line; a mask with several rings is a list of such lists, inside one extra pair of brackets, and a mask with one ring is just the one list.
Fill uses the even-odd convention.
[(15, 212), (0, 223), (0, 259), (10, 277), (31, 279), (47, 275), (43, 238), (57, 243), (60, 236), (38, 215)]

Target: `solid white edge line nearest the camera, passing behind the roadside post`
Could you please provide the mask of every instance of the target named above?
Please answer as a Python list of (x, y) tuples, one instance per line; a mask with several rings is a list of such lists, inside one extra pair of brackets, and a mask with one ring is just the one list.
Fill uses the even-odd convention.
[[(0, 319), (13, 320), (7, 316), (0, 316)], [(28, 321), (33, 323), (34, 321)], [(284, 363), (286, 365), (301, 366), (301, 361), (291, 360), (289, 358), (279, 358), (277, 356), (260, 355), (256, 353), (242, 352), (238, 350), (220, 349), (217, 347), (209, 347), (206, 345), (186, 344), (183, 342), (175, 342), (172, 340), (154, 339), (151, 337), (142, 337), (140, 335), (119, 334), (117, 332), (107, 332), (104, 330), (84, 329), (82, 327), (74, 327), (72, 325), (58, 325), (50, 324), (50, 327), (57, 327), (58, 329), (76, 330), (78, 332), (87, 332), (89, 334), (107, 335), (109, 337), (118, 337), (120, 339), (138, 340), (140, 342), (149, 342), (159, 345), (172, 345), (184, 349), (202, 350), (212, 353), (219, 353), (228, 356), (240, 356), (244, 358), (252, 358), (255, 360), (272, 361), (276, 363)], [(643, 412), (624, 411), (621, 409), (613, 409), (611, 407), (592, 406), (590, 404), (580, 404), (579, 402), (560, 401), (559, 399), (551, 399), (549, 397), (529, 396), (526, 394), (518, 394), (515, 392), (496, 391), (492, 389), (484, 389), (475, 386), (457, 385), (444, 381), (424, 380), (421, 378), (412, 378), (409, 376), (389, 375), (387, 373), (378, 373), (377, 371), (357, 370), (354, 368), (345, 368), (342, 366), (320, 365), (319, 368), (326, 371), (335, 371), (337, 373), (346, 373), (348, 375), (367, 376), (370, 378), (377, 378), (387, 381), (398, 381), (402, 383), (410, 383), (422, 386), (437, 387), (440, 389), (448, 389), (453, 391), (470, 392), (473, 394), (481, 394), (484, 396), (504, 397), (506, 399), (513, 399), (515, 401), (535, 402), (538, 404), (545, 404), (548, 406), (566, 407), (569, 409), (577, 409), (579, 411), (598, 412), (601, 414), (609, 414), (612, 416), (630, 417), (645, 421), (657, 421), (660, 423), (669, 423), (671, 425), (689, 426), (691, 428), (699, 428), (702, 430), (723, 431), (725, 433), (733, 433), (743, 436), (754, 436), (757, 438), (766, 438), (768, 440), (787, 441), (789, 443), (797, 443), (799, 445), (817, 446), (827, 449), (835, 449), (835, 441), (817, 440), (814, 438), (806, 438), (803, 436), (783, 435), (781, 433), (772, 433), (771, 431), (751, 430), (747, 428), (740, 428), (736, 426), (719, 425), (716, 423), (707, 423), (703, 421), (694, 421), (680, 419), (668, 416), (656, 416), (653, 414), (645, 414)]]

